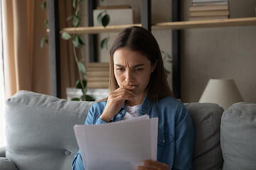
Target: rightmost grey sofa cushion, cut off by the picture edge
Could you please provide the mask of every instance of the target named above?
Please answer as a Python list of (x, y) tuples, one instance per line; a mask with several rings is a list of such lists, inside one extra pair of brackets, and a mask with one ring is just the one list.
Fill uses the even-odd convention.
[(256, 104), (235, 103), (221, 118), (223, 169), (256, 169)]

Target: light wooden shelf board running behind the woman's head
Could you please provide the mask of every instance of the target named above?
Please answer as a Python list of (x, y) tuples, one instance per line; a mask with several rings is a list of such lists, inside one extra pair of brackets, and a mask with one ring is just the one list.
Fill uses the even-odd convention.
[[(129, 26), (142, 26), (142, 24), (129, 24), (120, 26), (107, 26), (105, 29), (102, 26), (96, 27), (80, 27), (80, 28), (63, 28), (60, 33), (67, 32), (73, 33), (107, 33), (118, 32)], [(207, 21), (179, 21), (179, 22), (166, 22), (156, 23), (152, 25), (152, 30), (183, 30), (188, 28), (213, 28), (213, 27), (229, 27), (229, 26), (256, 26), (256, 17), (251, 18), (229, 18), (219, 20), (207, 20)]]

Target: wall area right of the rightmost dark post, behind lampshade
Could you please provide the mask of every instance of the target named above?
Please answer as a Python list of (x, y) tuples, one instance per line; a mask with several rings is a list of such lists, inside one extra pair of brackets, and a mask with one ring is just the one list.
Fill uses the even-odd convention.
[[(182, 1), (188, 19), (189, 1)], [(254, 17), (255, 0), (230, 1), (230, 18)], [(256, 103), (256, 26), (182, 31), (181, 98), (196, 102), (208, 79), (233, 78), (245, 101)]]

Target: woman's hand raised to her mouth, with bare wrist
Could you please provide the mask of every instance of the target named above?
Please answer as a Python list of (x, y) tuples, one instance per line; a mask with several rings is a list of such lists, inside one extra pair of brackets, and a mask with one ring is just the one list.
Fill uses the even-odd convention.
[(134, 99), (134, 93), (132, 91), (134, 88), (134, 86), (125, 85), (115, 91), (111, 91), (107, 98), (107, 105), (102, 115), (100, 115), (100, 119), (109, 123), (114, 115), (120, 111), (125, 101), (132, 101)]

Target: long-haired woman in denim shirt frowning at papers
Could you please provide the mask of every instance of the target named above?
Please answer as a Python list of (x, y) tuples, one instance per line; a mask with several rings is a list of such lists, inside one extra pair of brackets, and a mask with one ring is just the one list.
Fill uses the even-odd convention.
[[(146, 160), (136, 169), (192, 169), (193, 123), (173, 98), (159, 45), (148, 30), (133, 26), (117, 36), (110, 50), (110, 91), (107, 101), (90, 108), (86, 125), (158, 117), (157, 162)], [(73, 169), (84, 169), (80, 152)]]

